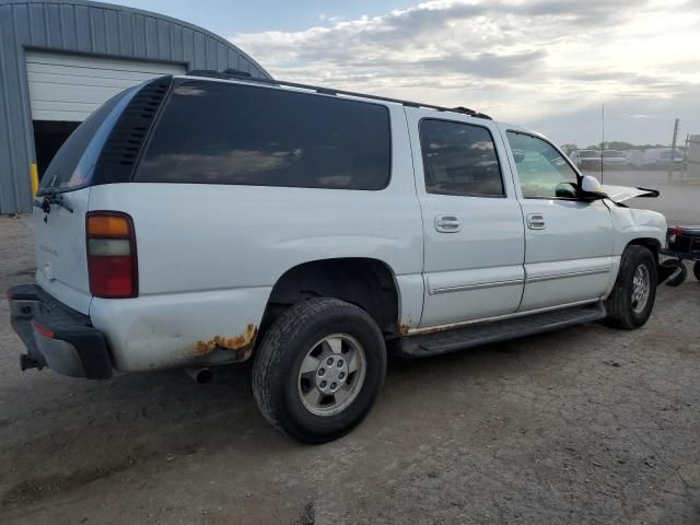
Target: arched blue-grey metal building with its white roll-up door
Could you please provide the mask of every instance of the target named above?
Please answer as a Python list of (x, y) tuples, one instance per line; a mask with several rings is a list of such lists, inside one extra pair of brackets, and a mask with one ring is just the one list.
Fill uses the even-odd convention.
[(226, 68), (270, 78), (228, 40), (168, 16), (84, 0), (0, 0), (0, 213), (31, 211), (33, 173), (116, 93)]

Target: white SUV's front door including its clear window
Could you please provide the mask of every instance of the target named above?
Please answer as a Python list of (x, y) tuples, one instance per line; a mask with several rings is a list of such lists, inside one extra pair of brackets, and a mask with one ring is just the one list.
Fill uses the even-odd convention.
[(520, 311), (603, 296), (612, 271), (612, 219), (603, 200), (576, 199), (578, 174), (541, 137), (502, 126), (525, 215)]

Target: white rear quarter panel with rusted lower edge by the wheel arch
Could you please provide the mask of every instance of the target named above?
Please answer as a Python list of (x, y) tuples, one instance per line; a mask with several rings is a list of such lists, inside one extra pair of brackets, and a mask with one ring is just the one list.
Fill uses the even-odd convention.
[(400, 324), (417, 326), (423, 295), (421, 214), (402, 107), (388, 107), (392, 179), (384, 190), (93, 187), (90, 209), (128, 213), (137, 237), (139, 298), (94, 299), (91, 306), (117, 366), (226, 361), (225, 350), (212, 350), (215, 345), (209, 342), (249, 339), (278, 279), (298, 265), (326, 258), (385, 262), (398, 284)]

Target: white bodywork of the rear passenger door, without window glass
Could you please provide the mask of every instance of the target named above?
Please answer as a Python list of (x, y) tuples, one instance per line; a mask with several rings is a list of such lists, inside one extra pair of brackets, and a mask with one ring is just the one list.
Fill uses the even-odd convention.
[[(491, 120), (430, 109), (406, 108), (416, 158), (416, 188), (423, 215), (425, 300), (420, 327), (427, 328), (514, 313), (524, 282), (524, 233), (504, 144)], [(421, 154), (420, 122), (447, 120), (487, 129), (495, 147), (502, 197), (430, 194)], [(454, 231), (440, 226), (443, 220)]]

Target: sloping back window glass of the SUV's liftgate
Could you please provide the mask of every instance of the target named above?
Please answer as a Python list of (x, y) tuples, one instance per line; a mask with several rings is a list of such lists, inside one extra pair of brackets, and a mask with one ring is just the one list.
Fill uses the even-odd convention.
[(78, 126), (46, 168), (37, 195), (90, 185), (102, 145), (136, 90), (131, 88), (109, 98)]

